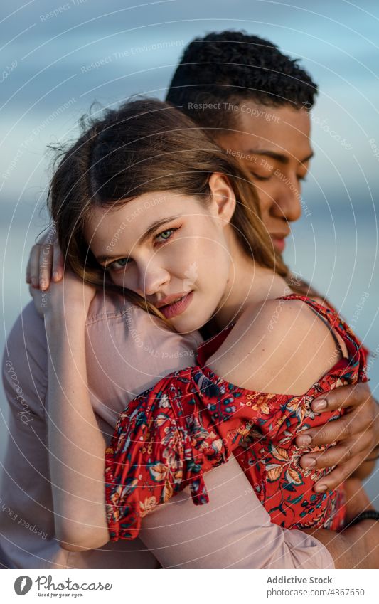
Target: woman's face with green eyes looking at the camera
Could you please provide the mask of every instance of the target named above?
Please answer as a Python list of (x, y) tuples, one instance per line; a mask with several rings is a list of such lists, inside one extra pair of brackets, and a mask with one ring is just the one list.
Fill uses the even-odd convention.
[(116, 209), (94, 208), (85, 228), (87, 244), (114, 283), (159, 307), (181, 333), (213, 316), (230, 275), (235, 199), (222, 176), (211, 179), (216, 191), (207, 206), (184, 194), (154, 192)]

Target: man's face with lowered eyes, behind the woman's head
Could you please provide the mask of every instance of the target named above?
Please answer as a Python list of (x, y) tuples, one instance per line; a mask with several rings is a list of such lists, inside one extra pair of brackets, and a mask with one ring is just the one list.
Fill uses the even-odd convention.
[(252, 174), (262, 220), (282, 253), (290, 223), (301, 216), (301, 181), (309, 169), (311, 120), (306, 110), (241, 102), (237, 126), (217, 142)]

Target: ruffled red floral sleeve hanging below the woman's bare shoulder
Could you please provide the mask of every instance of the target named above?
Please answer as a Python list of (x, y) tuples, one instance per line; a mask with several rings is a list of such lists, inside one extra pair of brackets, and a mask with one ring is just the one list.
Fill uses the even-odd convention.
[(112, 541), (137, 537), (143, 516), (187, 486), (195, 504), (208, 502), (203, 472), (228, 460), (257, 420), (244, 395), (194, 366), (134, 398), (105, 455)]

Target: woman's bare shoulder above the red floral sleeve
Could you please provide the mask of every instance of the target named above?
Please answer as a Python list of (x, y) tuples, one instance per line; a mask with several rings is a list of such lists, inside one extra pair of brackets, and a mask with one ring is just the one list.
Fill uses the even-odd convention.
[(301, 300), (245, 309), (207, 365), (249, 390), (303, 394), (340, 358), (329, 327)]

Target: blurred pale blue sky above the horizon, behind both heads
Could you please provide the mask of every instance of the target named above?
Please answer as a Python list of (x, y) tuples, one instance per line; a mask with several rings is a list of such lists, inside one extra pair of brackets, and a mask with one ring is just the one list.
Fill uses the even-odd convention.
[[(74, 136), (93, 100), (108, 106), (138, 92), (163, 97), (191, 38), (245, 28), (302, 58), (319, 83), (309, 198), (323, 191), (333, 193), (333, 203), (345, 204), (350, 194), (352, 203), (372, 205), (379, 179), (375, 0), (359, 6), (345, 0), (2, 0), (1, 14), (1, 203), (38, 201), (49, 174), (46, 145)], [(159, 43), (172, 46), (149, 48)], [(107, 63), (90, 68), (101, 60)]]

